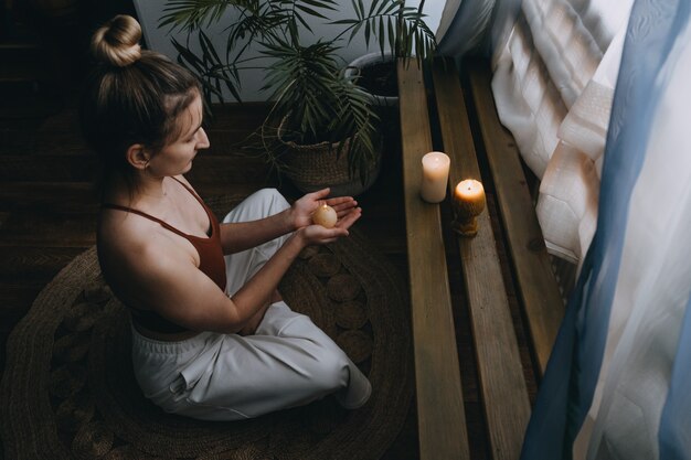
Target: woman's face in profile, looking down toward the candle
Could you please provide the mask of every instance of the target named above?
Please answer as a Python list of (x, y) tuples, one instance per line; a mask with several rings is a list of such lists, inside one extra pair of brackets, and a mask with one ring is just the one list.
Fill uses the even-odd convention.
[(209, 148), (209, 138), (202, 128), (203, 105), (200, 95), (184, 109), (178, 120), (180, 135), (152, 156), (148, 170), (157, 176), (184, 174), (192, 168), (196, 152)]

